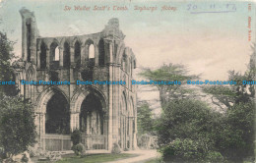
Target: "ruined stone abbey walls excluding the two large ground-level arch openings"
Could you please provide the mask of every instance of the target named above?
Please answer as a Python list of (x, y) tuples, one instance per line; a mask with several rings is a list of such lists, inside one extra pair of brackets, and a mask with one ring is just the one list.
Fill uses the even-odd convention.
[[(106, 112), (107, 149), (113, 143), (134, 148), (137, 134), (136, 87), (131, 84), (136, 58), (124, 44), (117, 19), (109, 20), (102, 31), (74, 36), (39, 36), (35, 18), (27, 9), (23, 19), (23, 56), (14, 64), (21, 94), (31, 99), (36, 112), (39, 136), (45, 135), (47, 101), (61, 92), (70, 105), (73, 131), (79, 128), (82, 101), (90, 93), (102, 100)], [(67, 85), (24, 85), (21, 81), (70, 81)], [(126, 81), (126, 84), (78, 85), (76, 81)]]

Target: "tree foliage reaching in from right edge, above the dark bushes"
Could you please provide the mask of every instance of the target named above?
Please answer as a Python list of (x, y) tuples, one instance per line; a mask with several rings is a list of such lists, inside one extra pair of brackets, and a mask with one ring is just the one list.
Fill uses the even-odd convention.
[(256, 45), (252, 46), (252, 50), (247, 71), (243, 75), (235, 71), (228, 72), (228, 81), (236, 81), (236, 84), (202, 86), (203, 91), (213, 95), (213, 103), (230, 108), (235, 103), (250, 102), (255, 99), (255, 84), (243, 84), (243, 81), (256, 80)]

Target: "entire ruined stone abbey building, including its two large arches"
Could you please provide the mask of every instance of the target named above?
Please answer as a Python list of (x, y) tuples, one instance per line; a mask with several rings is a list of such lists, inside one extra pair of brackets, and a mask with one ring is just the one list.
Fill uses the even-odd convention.
[[(117, 19), (97, 33), (42, 37), (35, 17), (22, 16), (22, 59), (14, 64), (21, 94), (32, 101), (43, 150), (70, 150), (70, 134), (79, 129), (88, 150), (112, 151), (137, 146), (136, 59), (124, 44)], [(70, 81), (29, 85), (21, 81)], [(76, 81), (126, 81), (126, 84), (78, 85)]]

